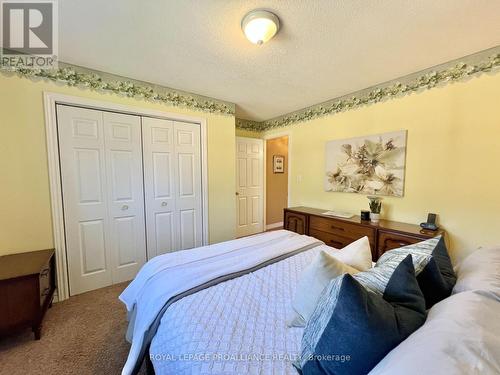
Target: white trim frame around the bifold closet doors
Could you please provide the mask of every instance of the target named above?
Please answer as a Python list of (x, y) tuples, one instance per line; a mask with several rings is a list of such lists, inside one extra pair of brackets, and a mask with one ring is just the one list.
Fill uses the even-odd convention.
[[(73, 107), (83, 107), (100, 111), (109, 111), (122, 114), (155, 117), (166, 120), (183, 121), (200, 125), (201, 131), (201, 185), (202, 185), (202, 240), (208, 245), (208, 137), (207, 121), (201, 117), (187, 116), (173, 112), (147, 109), (132, 105), (116, 104), (104, 100), (87, 99), (79, 96), (70, 96), (49, 91), (43, 92), (45, 112), (45, 135), (47, 141), (47, 158), (49, 169), (50, 200), (52, 210), (52, 230), (56, 257), (57, 290), (56, 301), (69, 298), (69, 277), (66, 259), (66, 235), (64, 231), (64, 210), (61, 186), (61, 169), (59, 158), (59, 140), (57, 132), (58, 104)], [(141, 145), (142, 147), (142, 145)], [(147, 254), (146, 254), (147, 256)]]

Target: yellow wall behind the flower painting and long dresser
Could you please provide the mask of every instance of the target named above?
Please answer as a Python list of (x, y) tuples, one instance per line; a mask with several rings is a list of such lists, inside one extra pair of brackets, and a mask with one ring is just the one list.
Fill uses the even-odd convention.
[(439, 214), (455, 259), (500, 244), (500, 74), (290, 126), (292, 205), (366, 209), (363, 195), (323, 190), (325, 142), (400, 129), (408, 130), (405, 195), (385, 198), (382, 216), (420, 223)]

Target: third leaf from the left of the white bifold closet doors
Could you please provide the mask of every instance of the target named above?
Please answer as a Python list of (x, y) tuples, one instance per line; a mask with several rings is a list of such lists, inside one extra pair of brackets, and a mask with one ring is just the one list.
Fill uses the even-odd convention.
[(148, 257), (178, 249), (174, 123), (142, 118)]

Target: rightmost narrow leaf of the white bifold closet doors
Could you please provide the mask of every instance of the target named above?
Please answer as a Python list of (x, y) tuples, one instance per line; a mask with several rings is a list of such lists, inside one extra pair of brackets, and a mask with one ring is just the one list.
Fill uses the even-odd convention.
[(202, 245), (200, 126), (174, 122), (179, 247)]

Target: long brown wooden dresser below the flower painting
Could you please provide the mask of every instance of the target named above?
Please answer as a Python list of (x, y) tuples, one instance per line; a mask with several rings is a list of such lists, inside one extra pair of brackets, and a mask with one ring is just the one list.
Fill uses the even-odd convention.
[(418, 225), (380, 220), (375, 224), (363, 221), (359, 216), (342, 219), (323, 215), (328, 210), (309, 207), (285, 208), (283, 226), (290, 231), (315, 237), (327, 245), (343, 248), (357, 239), (367, 236), (373, 260), (387, 250), (417, 243), (443, 231), (427, 231)]

